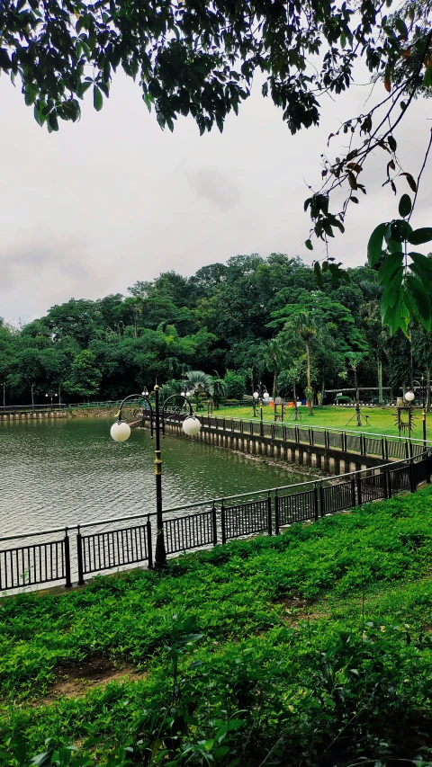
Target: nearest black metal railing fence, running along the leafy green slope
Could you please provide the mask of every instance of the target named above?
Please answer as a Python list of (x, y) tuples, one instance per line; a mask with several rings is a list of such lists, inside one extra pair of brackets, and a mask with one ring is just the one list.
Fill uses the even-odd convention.
[[(430, 482), (431, 471), (432, 448), (428, 448), (410, 459), (340, 477), (166, 509), (166, 553), (174, 556), (258, 533), (277, 534), (294, 522), (318, 520), (396, 493), (413, 493), (420, 483)], [(129, 525), (119, 526), (121, 522)], [(0, 539), (0, 545), (20, 540), (0, 550), (0, 593), (56, 582), (84, 584), (86, 576), (142, 563), (151, 567), (152, 540), (160, 534), (155, 513), (85, 522), (77, 526), (73, 552), (69, 532), (66, 528)]]

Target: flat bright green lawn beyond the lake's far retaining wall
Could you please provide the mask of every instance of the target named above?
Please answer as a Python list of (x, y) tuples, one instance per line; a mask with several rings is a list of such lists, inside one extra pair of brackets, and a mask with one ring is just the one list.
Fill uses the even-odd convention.
[[(325, 426), (332, 429), (347, 429), (354, 432), (369, 432), (377, 434), (394, 434), (398, 435), (398, 430), (395, 425), (396, 422), (396, 408), (395, 407), (364, 407), (362, 413), (368, 415), (369, 424), (363, 424), (361, 428), (356, 426), (356, 418), (354, 407), (336, 407), (336, 406), (324, 406), (320, 408), (314, 408), (313, 414), (309, 415), (307, 407), (299, 407), (299, 411), (302, 415), (302, 421), (298, 424), (307, 426)], [(285, 409), (285, 424), (293, 424), (293, 410), (292, 408)], [(252, 419), (254, 417), (253, 408), (250, 407), (227, 407), (220, 408), (220, 410), (213, 410), (213, 415), (217, 415), (220, 418), (245, 418)], [(258, 411), (259, 415), (259, 411)], [(290, 417), (291, 416), (291, 417)], [(273, 407), (263, 407), (263, 418), (266, 421), (274, 420)], [(352, 418), (350, 424), (349, 419)], [(427, 415), (428, 426), (428, 439), (432, 440), (432, 413)], [(258, 419), (256, 419), (258, 420)], [(421, 424), (421, 411), (417, 411), (415, 429), (412, 434), (413, 437), (418, 439), (422, 438), (422, 424)]]

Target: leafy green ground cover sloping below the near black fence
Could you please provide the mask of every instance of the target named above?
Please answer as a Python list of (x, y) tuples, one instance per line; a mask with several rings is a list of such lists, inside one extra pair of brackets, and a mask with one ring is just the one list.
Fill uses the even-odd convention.
[(0, 763), (432, 764), (431, 515), (428, 487), (4, 599)]

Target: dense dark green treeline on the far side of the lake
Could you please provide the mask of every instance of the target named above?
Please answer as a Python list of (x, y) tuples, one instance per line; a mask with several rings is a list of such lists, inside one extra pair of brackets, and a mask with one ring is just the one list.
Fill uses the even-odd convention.
[[(0, 383), (6, 404), (114, 399), (144, 385), (202, 370), (224, 379), (226, 397), (250, 394), (259, 378), (286, 397), (353, 386), (396, 388), (428, 376), (429, 334), (390, 337), (381, 289), (368, 267), (317, 290), (299, 258), (238, 255), (193, 277), (138, 281), (127, 297), (70, 299), (22, 328), (0, 321)], [(228, 371), (228, 374), (227, 374)]]

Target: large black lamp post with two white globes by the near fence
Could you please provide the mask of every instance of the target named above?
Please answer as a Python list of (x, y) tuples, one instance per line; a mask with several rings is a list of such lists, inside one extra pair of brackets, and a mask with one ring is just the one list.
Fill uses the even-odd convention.
[(160, 410), (159, 405), (159, 387), (157, 384), (155, 385), (155, 407), (153, 411), (153, 406), (148, 399), (148, 389), (144, 388), (142, 394), (130, 394), (129, 397), (124, 397), (123, 401), (121, 402), (120, 410), (117, 415), (117, 421), (115, 424), (112, 424), (111, 427), (111, 436), (112, 439), (116, 442), (124, 442), (130, 437), (130, 425), (126, 423), (126, 421), (123, 421), (121, 419), (121, 409), (124, 405), (124, 403), (128, 399), (141, 399), (144, 400), (150, 410), (150, 435), (153, 436), (153, 412), (155, 415), (155, 425), (154, 430), (156, 433), (156, 450), (155, 450), (155, 478), (156, 478), (156, 526), (157, 526), (157, 537), (156, 537), (156, 551), (155, 551), (155, 566), (160, 567), (165, 565), (166, 563), (166, 548), (165, 548), (165, 538), (164, 538), (164, 521), (163, 521), (163, 514), (162, 514), (162, 458), (161, 458), (161, 450), (160, 450), (160, 432), (162, 430), (162, 436), (165, 436), (165, 410), (166, 410), (166, 403), (169, 402), (170, 399), (175, 399), (181, 397), (184, 402), (189, 406), (189, 415), (184, 419), (183, 422), (183, 431), (188, 437), (193, 437), (195, 434), (197, 434), (201, 429), (201, 423), (198, 421), (198, 418), (196, 418), (193, 415), (193, 409), (192, 405), (187, 399), (187, 397), (184, 396), (184, 394), (173, 394), (170, 397), (166, 397), (165, 402), (162, 405), (162, 411)]

